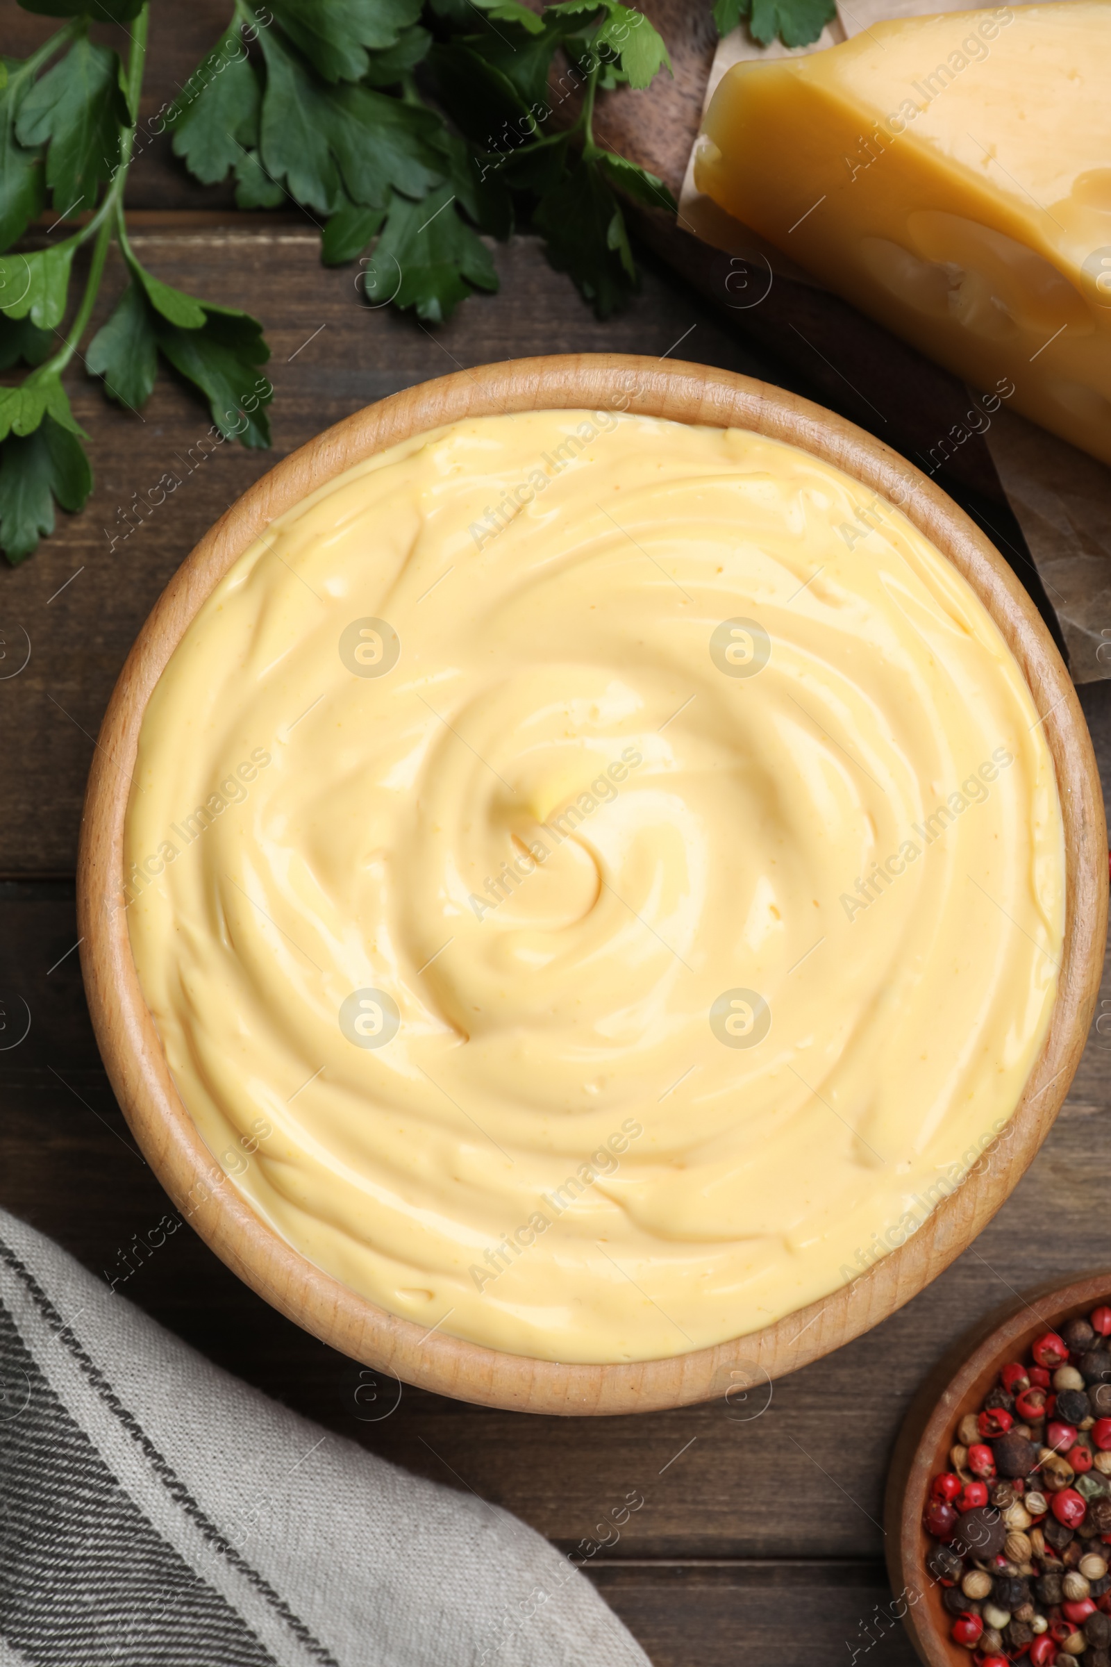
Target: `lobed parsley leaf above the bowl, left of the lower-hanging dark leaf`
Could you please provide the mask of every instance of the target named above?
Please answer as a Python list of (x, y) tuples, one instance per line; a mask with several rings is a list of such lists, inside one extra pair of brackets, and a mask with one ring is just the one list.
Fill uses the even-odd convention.
[(450, 318), (471, 288), (498, 288), (486, 245), (460, 220), (453, 203), (450, 185), (441, 185), (420, 203), (395, 197), (375, 245), (378, 283), (385, 288), (390, 273), (396, 272), (393, 302), (415, 307), (416, 317), (426, 323)]

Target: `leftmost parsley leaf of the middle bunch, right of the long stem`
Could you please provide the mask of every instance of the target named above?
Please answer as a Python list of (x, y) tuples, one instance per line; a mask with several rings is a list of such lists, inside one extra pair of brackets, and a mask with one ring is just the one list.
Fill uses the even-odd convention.
[(258, 143), (258, 77), (248, 63), (240, 27), (225, 30), (167, 112), (173, 153), (202, 185), (228, 177), (243, 150)]

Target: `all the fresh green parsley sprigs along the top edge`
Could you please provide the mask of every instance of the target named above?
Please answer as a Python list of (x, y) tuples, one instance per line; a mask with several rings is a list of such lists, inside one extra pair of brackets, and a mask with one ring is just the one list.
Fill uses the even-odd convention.
[[(83, 362), (138, 412), (158, 368), (208, 405), (213, 428), (270, 443), (262, 325), (147, 272), (127, 233), (128, 167), (152, 133), (203, 185), (228, 177), (240, 208), (295, 203), (321, 227), (326, 265), (360, 262), (371, 305), (450, 318), (496, 290), (485, 238), (528, 223), (600, 317), (638, 283), (626, 200), (675, 210), (653, 173), (595, 137), (600, 93), (670, 73), (648, 18), (623, 0), (228, 0), (228, 25), (178, 98), (137, 128), (148, 0), (20, 0), (60, 20), (28, 58), (0, 58), (0, 550), (33, 553), (55, 505), (92, 490), (85, 435), (62, 375), (82, 348), (117, 242), (127, 287)], [(758, 38), (810, 40), (831, 0), (716, 0)], [(818, 18), (821, 17), (821, 22)], [(127, 63), (90, 38), (125, 23)], [(763, 33), (761, 33), (763, 30)], [(811, 33), (806, 33), (811, 30)], [(77, 227), (17, 245), (47, 212)], [(53, 230), (53, 228), (52, 228)], [(75, 253), (90, 248), (80, 295)]]

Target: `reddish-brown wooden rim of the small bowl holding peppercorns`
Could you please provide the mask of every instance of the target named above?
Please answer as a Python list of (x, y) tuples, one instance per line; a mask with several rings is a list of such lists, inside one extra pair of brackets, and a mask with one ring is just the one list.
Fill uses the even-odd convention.
[(926, 1570), (926, 1555), (936, 1542), (923, 1527), (929, 1484), (949, 1469), (956, 1427), (966, 1412), (979, 1412), (999, 1367), (1026, 1359), (1043, 1332), (1056, 1332), (1108, 1299), (1111, 1269), (1081, 1274), (1069, 1285), (1036, 1285), (1024, 1297), (994, 1309), (938, 1362), (906, 1414), (884, 1502), (888, 1575), (896, 1602), (901, 1595), (906, 1609), (903, 1624), (928, 1667), (969, 1667), (971, 1662), (969, 1652), (949, 1637), (953, 1615), (941, 1607), (941, 1589)]

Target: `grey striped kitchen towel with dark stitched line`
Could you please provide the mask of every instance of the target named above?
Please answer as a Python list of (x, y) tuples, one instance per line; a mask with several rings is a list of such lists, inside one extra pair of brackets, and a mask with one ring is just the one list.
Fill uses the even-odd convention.
[(0, 1212), (0, 1667), (648, 1667), (506, 1510), (267, 1400)]

